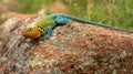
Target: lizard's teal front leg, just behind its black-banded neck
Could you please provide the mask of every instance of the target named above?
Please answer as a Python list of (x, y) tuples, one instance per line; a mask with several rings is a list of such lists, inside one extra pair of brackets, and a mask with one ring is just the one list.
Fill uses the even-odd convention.
[(43, 32), (42, 36), (39, 40), (45, 40), (49, 39), (52, 34), (52, 27), (48, 27)]

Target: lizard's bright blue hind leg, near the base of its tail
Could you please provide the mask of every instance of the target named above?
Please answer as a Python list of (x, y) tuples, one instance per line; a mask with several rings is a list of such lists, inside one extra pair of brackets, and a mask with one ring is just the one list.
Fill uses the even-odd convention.
[(59, 24), (71, 24), (72, 20), (63, 18), (63, 17), (57, 17), (55, 22)]

